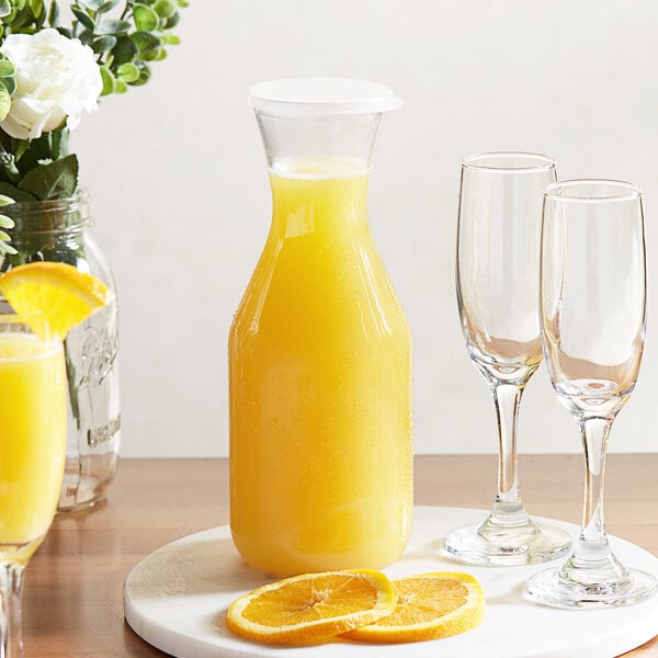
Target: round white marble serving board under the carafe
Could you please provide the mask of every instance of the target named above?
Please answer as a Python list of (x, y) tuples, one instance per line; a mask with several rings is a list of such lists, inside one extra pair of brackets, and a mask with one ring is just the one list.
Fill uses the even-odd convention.
[[(309, 647), (241, 639), (226, 628), (228, 605), (272, 579), (242, 563), (227, 525), (183, 537), (145, 557), (125, 581), (125, 619), (146, 642), (177, 658), (613, 658), (658, 635), (658, 595), (610, 610), (546, 608), (530, 601), (525, 581), (560, 560), (530, 567), (474, 567), (447, 557), (444, 534), (485, 515), (483, 510), (417, 507), (407, 551), (384, 569), (393, 578), (427, 571), (473, 574), (485, 590), (487, 613), (480, 626), (462, 635), (413, 645), (339, 639)], [(552, 522), (572, 538), (578, 536), (576, 525)], [(658, 575), (658, 557), (623, 540), (610, 541), (625, 565)]]

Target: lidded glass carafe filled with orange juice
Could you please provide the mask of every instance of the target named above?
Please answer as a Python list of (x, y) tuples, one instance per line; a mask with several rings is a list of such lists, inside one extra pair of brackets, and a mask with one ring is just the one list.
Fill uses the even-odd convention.
[(411, 349), (366, 212), (381, 84), (294, 79), (250, 104), (270, 234), (229, 337), (230, 523), (275, 575), (383, 567), (412, 513)]

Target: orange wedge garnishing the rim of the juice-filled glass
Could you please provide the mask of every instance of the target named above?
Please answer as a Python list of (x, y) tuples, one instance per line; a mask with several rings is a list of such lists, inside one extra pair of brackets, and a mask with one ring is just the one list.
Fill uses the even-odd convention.
[[(101, 281), (66, 263), (37, 261), (0, 275), (0, 293), (42, 340), (64, 339), (114, 293)], [(37, 313), (38, 311), (38, 313)]]

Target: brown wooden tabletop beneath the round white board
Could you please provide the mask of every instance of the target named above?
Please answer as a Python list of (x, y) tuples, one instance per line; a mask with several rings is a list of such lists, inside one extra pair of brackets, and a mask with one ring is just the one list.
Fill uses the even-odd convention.
[[(521, 456), (519, 468), (531, 513), (579, 523), (581, 457)], [(658, 454), (609, 457), (608, 531), (654, 555), (657, 473)], [(106, 503), (58, 515), (26, 572), (26, 658), (164, 656), (124, 623), (124, 579), (163, 544), (227, 523), (227, 480), (226, 460), (124, 460)], [(489, 508), (495, 486), (495, 457), (417, 457), (417, 504)], [(658, 637), (626, 656), (658, 658)]]

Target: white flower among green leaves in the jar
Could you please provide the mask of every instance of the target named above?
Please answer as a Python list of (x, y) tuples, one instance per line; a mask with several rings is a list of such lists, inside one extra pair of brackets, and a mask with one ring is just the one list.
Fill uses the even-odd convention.
[(57, 30), (10, 34), (0, 50), (14, 65), (16, 91), (0, 127), (19, 139), (36, 139), (67, 120), (80, 123), (82, 112), (98, 110), (103, 89), (93, 50)]

